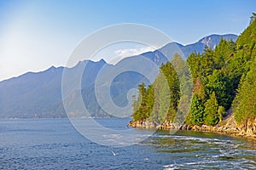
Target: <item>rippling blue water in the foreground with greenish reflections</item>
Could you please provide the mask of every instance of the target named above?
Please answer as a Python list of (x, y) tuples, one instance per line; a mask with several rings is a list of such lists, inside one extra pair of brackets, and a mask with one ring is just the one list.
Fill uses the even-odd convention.
[[(97, 119), (125, 129), (129, 119)], [(256, 169), (256, 144), (214, 133), (158, 131), (139, 144), (91, 142), (68, 119), (0, 120), (0, 169)]]

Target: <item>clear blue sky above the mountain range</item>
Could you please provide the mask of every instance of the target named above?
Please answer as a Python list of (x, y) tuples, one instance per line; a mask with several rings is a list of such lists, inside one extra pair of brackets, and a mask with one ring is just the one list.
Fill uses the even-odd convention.
[(143, 24), (185, 45), (210, 34), (240, 35), (255, 7), (255, 0), (0, 0), (0, 81), (66, 65), (79, 42), (102, 27)]

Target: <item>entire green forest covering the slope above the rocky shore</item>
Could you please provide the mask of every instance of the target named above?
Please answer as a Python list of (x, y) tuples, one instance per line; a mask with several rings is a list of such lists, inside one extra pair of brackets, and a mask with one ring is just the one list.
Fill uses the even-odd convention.
[[(174, 116), (182, 117), (180, 120), (183, 120), (184, 113), (189, 112), (186, 119), (188, 124), (216, 125), (231, 105), (236, 122), (255, 119), (255, 16), (253, 14), (250, 25), (236, 42), (221, 39), (215, 49), (206, 47), (203, 54), (190, 54), (188, 65), (177, 54), (172, 64), (162, 65), (161, 74), (152, 87), (139, 87), (140, 96), (134, 103), (134, 120), (149, 118), (152, 122), (163, 122), (173, 121)], [(168, 86), (164, 85), (163, 77), (166, 77)], [(193, 95), (189, 94), (192, 88)], [(188, 108), (186, 106), (191, 98), (189, 111), (177, 109)], [(148, 114), (150, 111), (151, 115)]]

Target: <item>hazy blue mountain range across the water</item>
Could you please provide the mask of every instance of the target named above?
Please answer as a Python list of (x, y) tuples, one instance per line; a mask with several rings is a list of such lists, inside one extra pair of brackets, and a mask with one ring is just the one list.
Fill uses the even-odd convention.
[[(28, 72), (20, 77), (10, 78), (0, 82), (0, 118), (67, 117), (61, 97), (62, 73), (66, 69), (65, 71), (69, 72), (73, 79), (78, 78), (76, 72), (79, 71), (79, 68), (84, 68), (85, 65), (81, 78), (82, 89), (77, 89), (75, 93), (70, 94), (70, 104), (76, 103), (79, 94), (82, 94), (84, 104), (91, 116), (109, 116), (105, 111), (102, 111), (101, 106), (96, 101), (96, 76), (102, 68), (113, 71), (120, 65), (128, 64), (132, 60), (134, 67), (140, 67), (142, 71), (150, 73), (152, 69), (150, 65), (137, 65), (137, 62), (134, 61), (141, 59), (141, 56), (143, 56), (153, 61), (155, 65), (161, 65), (166, 63), (168, 59), (172, 59), (175, 53), (181, 54), (186, 59), (192, 52), (202, 53), (206, 45), (214, 48), (221, 38), (236, 41), (237, 36), (233, 34), (211, 35), (186, 46), (171, 42), (154, 52), (122, 59), (117, 65), (109, 65), (103, 59), (97, 62), (86, 60), (79, 62), (73, 68), (55, 68), (52, 66), (46, 71)], [(110, 85), (110, 94), (115, 105), (125, 106), (128, 103), (126, 94), (131, 88), (137, 88), (137, 85), (141, 82), (149, 84), (146, 77), (135, 71), (125, 71), (115, 77)], [(70, 82), (70, 86), (73, 86), (72, 82)], [(76, 111), (79, 112), (79, 108), (74, 107), (73, 112)], [(83, 115), (77, 114), (76, 116)]]

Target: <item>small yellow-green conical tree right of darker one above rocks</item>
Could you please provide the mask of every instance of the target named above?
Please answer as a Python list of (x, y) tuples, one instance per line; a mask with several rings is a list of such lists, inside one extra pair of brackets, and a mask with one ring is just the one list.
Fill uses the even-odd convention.
[(205, 117), (207, 125), (216, 125), (219, 122), (218, 102), (214, 92), (205, 103)]

